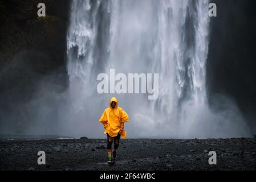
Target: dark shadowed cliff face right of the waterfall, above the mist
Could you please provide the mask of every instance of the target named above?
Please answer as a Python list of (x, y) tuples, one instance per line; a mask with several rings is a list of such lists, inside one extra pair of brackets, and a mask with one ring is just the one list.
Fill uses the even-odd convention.
[(216, 93), (231, 96), (247, 120), (255, 123), (256, 2), (212, 2), (217, 4), (217, 17), (211, 18), (206, 70), (210, 99)]

